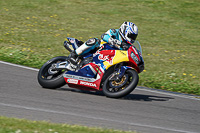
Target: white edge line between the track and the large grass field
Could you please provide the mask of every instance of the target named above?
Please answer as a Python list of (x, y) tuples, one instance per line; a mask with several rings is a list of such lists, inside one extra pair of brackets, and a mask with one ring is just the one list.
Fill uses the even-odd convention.
[[(17, 64), (13, 64), (13, 63), (8, 63), (8, 62), (4, 62), (4, 61), (0, 61), (0, 63), (6, 64), (6, 65), (10, 65), (10, 66), (20, 67), (20, 68), (24, 68), (24, 69), (28, 69), (28, 70), (39, 71), (39, 69), (26, 67), (26, 66), (22, 66), (22, 65), (17, 65)], [(170, 93), (170, 92), (161, 92), (159, 90), (151, 90), (151, 89), (147, 89), (147, 88), (146, 89), (142, 89), (140, 87), (137, 87), (136, 89), (142, 90), (142, 91), (149, 91), (149, 92), (153, 92), (153, 93), (158, 93), (158, 94), (164, 94), (164, 95), (168, 95), (168, 96), (176, 96), (176, 97), (181, 97), (181, 98), (186, 98), (186, 99), (200, 100), (200, 98), (195, 98), (195, 96), (173, 94), (173, 93)], [(196, 96), (196, 97), (199, 97), (199, 96)]]

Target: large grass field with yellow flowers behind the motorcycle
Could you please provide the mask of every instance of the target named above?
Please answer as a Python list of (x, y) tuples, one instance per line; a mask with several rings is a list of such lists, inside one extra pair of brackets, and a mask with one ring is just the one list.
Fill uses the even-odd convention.
[(40, 68), (68, 55), (65, 37), (100, 38), (124, 21), (139, 28), (140, 86), (200, 95), (199, 0), (1, 0), (0, 60)]

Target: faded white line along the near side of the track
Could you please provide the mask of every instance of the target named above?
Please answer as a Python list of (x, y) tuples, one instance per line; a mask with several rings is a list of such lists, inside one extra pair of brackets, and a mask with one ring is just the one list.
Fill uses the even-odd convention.
[(6, 106), (6, 107), (12, 107), (12, 108), (20, 108), (20, 109), (26, 109), (26, 110), (32, 110), (32, 111), (40, 111), (40, 112), (46, 112), (46, 113), (61, 114), (61, 115), (71, 115), (71, 116), (76, 116), (76, 117), (83, 117), (83, 118), (94, 119), (94, 120), (103, 120), (103, 121), (109, 121), (109, 122), (117, 122), (117, 123), (122, 123), (122, 124), (126, 124), (126, 125), (131, 125), (131, 126), (139, 126), (139, 127), (145, 127), (145, 128), (160, 129), (160, 130), (179, 132), (179, 133), (197, 133), (197, 132), (191, 132), (191, 131), (167, 128), (167, 127), (160, 127), (160, 126), (153, 126), (153, 125), (146, 125), (146, 124), (132, 123), (132, 122), (130, 123), (130, 122), (126, 122), (126, 121), (119, 121), (119, 120), (107, 119), (107, 118), (102, 118), (102, 117), (95, 117), (95, 116), (90, 116), (90, 115), (84, 115), (83, 116), (81, 114), (76, 114), (76, 113), (55, 111), (55, 110), (34, 108), (34, 107), (27, 107), (27, 106), (15, 105), (15, 104), (0, 103), (0, 106)]

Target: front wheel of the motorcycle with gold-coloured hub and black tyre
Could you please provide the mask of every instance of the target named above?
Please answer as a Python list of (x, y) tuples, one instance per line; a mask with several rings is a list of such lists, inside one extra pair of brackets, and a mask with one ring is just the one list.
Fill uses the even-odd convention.
[[(113, 73), (114, 74), (114, 73)], [(133, 69), (128, 69), (121, 77), (120, 81), (110, 80), (111, 74), (103, 84), (103, 93), (110, 98), (120, 98), (131, 93), (138, 84), (138, 73)]]

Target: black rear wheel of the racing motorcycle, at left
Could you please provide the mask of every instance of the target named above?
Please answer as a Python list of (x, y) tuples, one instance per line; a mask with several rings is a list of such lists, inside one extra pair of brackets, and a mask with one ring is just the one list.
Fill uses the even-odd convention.
[(63, 73), (66, 71), (63, 70), (54, 70), (55, 64), (66, 61), (66, 56), (58, 56), (47, 61), (38, 72), (38, 82), (43, 88), (56, 89), (60, 88), (66, 84)]

